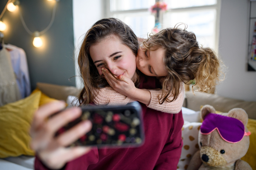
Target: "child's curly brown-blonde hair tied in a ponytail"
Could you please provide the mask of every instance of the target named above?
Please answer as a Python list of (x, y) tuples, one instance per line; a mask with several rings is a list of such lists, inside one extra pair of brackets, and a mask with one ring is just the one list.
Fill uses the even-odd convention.
[[(180, 25), (179, 25), (180, 26)], [(172, 102), (177, 99), (181, 82), (192, 86), (192, 91), (212, 93), (217, 82), (222, 81), (221, 59), (211, 48), (199, 47), (193, 32), (178, 28), (165, 28), (157, 34), (149, 34), (148, 39), (143, 42), (146, 50), (157, 50), (159, 47), (165, 49), (164, 62), (168, 75), (161, 77), (162, 96), (159, 103)], [(194, 80), (194, 81), (192, 81)], [(173, 99), (168, 96), (172, 94)]]

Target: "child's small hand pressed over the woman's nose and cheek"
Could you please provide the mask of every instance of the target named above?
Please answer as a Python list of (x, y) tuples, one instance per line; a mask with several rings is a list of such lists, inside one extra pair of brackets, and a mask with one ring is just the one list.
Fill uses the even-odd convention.
[(124, 75), (119, 75), (119, 77), (116, 77), (117, 79), (121, 80), (119, 81), (115, 79), (115, 77), (113, 77), (109, 73), (109, 71), (105, 68), (102, 68), (102, 73), (104, 74), (105, 79), (108, 81), (108, 84), (115, 91), (129, 98), (133, 98), (137, 88), (135, 87), (134, 82), (131, 79), (129, 79), (128, 77), (125, 77)]

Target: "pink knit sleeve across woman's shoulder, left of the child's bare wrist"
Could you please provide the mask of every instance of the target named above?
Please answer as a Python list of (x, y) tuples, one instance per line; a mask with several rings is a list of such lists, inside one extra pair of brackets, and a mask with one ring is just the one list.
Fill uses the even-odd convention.
[(95, 90), (93, 103), (96, 105), (126, 105), (130, 98), (118, 93), (111, 87)]

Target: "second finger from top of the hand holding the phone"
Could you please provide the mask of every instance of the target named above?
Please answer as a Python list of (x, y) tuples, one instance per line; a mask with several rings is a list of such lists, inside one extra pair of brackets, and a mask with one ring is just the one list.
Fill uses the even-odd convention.
[(67, 123), (78, 118), (81, 113), (81, 108), (68, 108), (49, 119), (47, 122), (47, 129), (51, 130), (50, 133), (55, 133), (58, 129), (67, 125)]

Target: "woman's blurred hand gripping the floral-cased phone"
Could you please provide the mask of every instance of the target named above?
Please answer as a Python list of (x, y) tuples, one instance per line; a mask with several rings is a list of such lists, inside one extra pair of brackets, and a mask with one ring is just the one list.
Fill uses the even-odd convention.
[[(65, 108), (64, 102), (51, 102), (35, 112), (30, 129), (30, 146), (41, 161), (51, 169), (60, 169), (73, 159), (90, 151), (90, 147), (66, 147), (75, 142), (92, 128), (90, 121), (80, 122), (67, 132), (54, 137), (58, 129), (81, 116), (81, 108)], [(52, 114), (61, 111), (55, 116)], [(49, 118), (50, 117), (50, 118)]]

